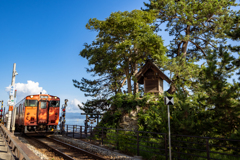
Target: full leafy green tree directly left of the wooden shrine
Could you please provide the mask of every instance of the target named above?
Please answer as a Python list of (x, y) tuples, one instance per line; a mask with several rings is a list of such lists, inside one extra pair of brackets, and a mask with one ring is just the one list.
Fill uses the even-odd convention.
[(108, 83), (104, 84), (108, 89), (120, 92), (126, 79), (128, 88), (131, 88), (131, 77), (136, 67), (148, 57), (165, 61), (163, 40), (150, 25), (155, 21), (155, 15), (154, 12), (133, 10), (114, 12), (104, 21), (90, 19), (86, 28), (97, 31), (98, 35), (91, 44), (85, 44), (85, 49), (80, 52), (88, 64), (93, 65), (88, 72), (103, 77), (107, 75), (105, 81)]

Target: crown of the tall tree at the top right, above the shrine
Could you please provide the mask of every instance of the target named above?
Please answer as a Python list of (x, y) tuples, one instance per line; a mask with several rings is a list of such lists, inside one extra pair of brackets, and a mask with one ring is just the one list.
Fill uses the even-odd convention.
[(144, 4), (147, 11), (158, 13), (156, 26), (166, 22), (166, 31), (174, 36), (168, 55), (184, 53), (187, 59), (197, 60), (206, 57), (210, 47), (217, 48), (219, 42), (226, 41), (225, 32), (236, 17), (230, 7), (237, 6), (235, 0), (150, 0)]

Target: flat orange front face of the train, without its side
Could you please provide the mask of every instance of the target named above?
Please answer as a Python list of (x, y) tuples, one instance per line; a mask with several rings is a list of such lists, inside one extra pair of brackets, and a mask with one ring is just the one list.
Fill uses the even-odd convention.
[[(60, 98), (48, 94), (26, 98), (25, 133), (54, 132), (59, 122)], [(37, 104), (31, 107), (31, 103)]]

